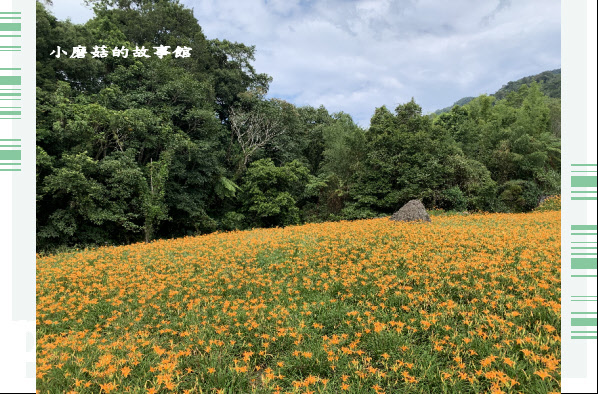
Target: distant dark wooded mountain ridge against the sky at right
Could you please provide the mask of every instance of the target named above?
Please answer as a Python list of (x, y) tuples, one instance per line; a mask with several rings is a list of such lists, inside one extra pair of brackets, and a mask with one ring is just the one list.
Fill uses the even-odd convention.
[[(510, 81), (506, 85), (503, 85), (500, 89), (496, 91), (496, 93), (491, 94), (490, 96), (496, 97), (497, 100), (504, 99), (507, 94), (510, 92), (516, 92), (519, 90), (521, 85), (531, 85), (532, 82), (537, 82), (540, 84), (540, 90), (542, 93), (547, 95), (548, 97), (552, 98), (561, 98), (561, 69), (558, 68), (556, 70), (544, 71), (540, 74), (530, 75), (528, 77), (523, 77), (518, 79), (517, 81)], [(439, 109), (434, 112), (436, 115), (440, 115), (444, 112), (449, 112), (451, 108), (455, 105), (465, 105), (473, 100), (475, 97), (463, 97), (460, 100), (457, 100), (451, 105), (450, 107), (445, 107)]]

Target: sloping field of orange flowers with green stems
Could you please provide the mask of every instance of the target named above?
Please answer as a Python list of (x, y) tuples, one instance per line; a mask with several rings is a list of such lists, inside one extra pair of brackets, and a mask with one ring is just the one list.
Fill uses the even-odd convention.
[(560, 392), (560, 212), (37, 259), (40, 393)]

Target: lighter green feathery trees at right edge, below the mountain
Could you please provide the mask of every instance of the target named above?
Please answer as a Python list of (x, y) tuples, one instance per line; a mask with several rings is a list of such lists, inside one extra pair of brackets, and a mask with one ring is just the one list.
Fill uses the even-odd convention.
[[(502, 190), (494, 203), (476, 209), (520, 212), (533, 209), (539, 195), (559, 193), (560, 124), (556, 126), (554, 111), (560, 113), (560, 105), (552, 100), (534, 82), (504, 100), (480, 96), (435, 118), (435, 124), (449, 131), (468, 158), (490, 171)], [(488, 189), (486, 202), (493, 193), (496, 188)], [(526, 193), (529, 196), (522, 197)]]

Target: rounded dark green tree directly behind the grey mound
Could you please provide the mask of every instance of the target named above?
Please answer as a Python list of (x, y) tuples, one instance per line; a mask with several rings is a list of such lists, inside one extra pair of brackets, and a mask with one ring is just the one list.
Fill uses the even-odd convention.
[(352, 191), (358, 207), (392, 213), (411, 199), (445, 209), (491, 206), (495, 184), (488, 171), (466, 158), (447, 128), (422, 116), (413, 100), (395, 116), (377, 109), (366, 139), (368, 153)]

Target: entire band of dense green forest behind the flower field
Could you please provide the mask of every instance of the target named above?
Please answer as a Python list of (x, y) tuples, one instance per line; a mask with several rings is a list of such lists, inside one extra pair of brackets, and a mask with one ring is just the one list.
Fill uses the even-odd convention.
[[(369, 218), (414, 198), (524, 212), (559, 193), (560, 98), (541, 81), (439, 115), (383, 106), (363, 129), (268, 98), (255, 48), (206, 38), (177, 1), (87, 2), (82, 25), (37, 3), (40, 251)], [(50, 56), (161, 44), (192, 56)]]

